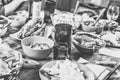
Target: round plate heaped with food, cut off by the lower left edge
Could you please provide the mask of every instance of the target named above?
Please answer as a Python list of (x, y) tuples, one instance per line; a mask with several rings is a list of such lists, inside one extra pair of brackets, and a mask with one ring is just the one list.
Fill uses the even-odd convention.
[(13, 49), (11, 50), (0, 49), (0, 62), (1, 62), (0, 75), (7, 75), (12, 71), (15, 71), (16, 69), (19, 70), (22, 67), (23, 64), (22, 54)]

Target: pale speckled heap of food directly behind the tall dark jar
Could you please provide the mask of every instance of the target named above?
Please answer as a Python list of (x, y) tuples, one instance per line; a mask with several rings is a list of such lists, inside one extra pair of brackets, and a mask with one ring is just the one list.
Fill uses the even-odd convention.
[(73, 29), (78, 28), (82, 17), (80, 15), (73, 15), (72, 13), (57, 13), (51, 15), (53, 25), (58, 23), (67, 23), (73, 26)]

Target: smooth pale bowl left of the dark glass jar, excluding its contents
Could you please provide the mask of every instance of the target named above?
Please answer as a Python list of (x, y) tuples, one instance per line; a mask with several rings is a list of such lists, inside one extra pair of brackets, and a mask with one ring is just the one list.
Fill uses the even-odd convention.
[[(45, 43), (49, 46), (49, 48), (48, 49), (31, 48), (30, 44), (35, 44), (35, 43)], [(40, 60), (48, 57), (54, 47), (53, 40), (46, 37), (40, 37), (40, 36), (26, 37), (21, 41), (21, 44), (24, 52), (23, 55), (36, 60)]]

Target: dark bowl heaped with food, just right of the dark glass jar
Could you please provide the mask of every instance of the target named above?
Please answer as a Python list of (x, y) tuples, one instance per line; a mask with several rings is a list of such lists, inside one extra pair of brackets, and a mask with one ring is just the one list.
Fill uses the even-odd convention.
[[(85, 43), (86, 43), (86, 42), (84, 42), (85, 40), (83, 41), (83, 39), (78, 39), (79, 41), (76, 41), (74, 39), (77, 35), (78, 36), (87, 35), (87, 36), (93, 38), (93, 41), (95, 39), (95, 43), (93, 41), (91, 41), (91, 43), (85, 45)], [(89, 41), (89, 39), (87, 39), (87, 40)], [(76, 33), (74, 36), (72, 36), (72, 43), (81, 52), (81, 54), (84, 54), (84, 55), (93, 54), (94, 52), (96, 52), (99, 49), (105, 47), (105, 45), (106, 45), (104, 40), (102, 40), (100, 37), (98, 37), (95, 34), (87, 33), (87, 32), (78, 32), (78, 33)]]

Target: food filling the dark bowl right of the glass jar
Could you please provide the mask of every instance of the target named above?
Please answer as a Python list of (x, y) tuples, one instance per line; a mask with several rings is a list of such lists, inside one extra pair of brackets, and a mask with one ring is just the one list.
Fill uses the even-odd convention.
[(73, 41), (73, 43), (77, 44), (78, 46), (90, 49), (99, 49), (104, 45), (103, 41), (100, 38), (88, 33), (78, 33), (75, 35), (74, 40), (75, 41)]

